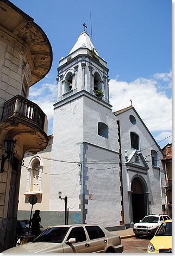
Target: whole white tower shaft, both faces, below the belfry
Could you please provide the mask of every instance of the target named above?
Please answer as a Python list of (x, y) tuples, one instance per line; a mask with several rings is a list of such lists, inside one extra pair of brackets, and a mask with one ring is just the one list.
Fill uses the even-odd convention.
[[(108, 139), (98, 135), (98, 122), (108, 125)], [(64, 211), (64, 202), (58, 200), (61, 190), (62, 197), (68, 197), (70, 211), (79, 212), (79, 195), (85, 193), (88, 201), (85, 204), (86, 223), (101, 223), (106, 227), (119, 225), (121, 194), (117, 128), (116, 118), (109, 107), (87, 95), (54, 109), (52, 159), (59, 161), (52, 161), (51, 173), (60, 175), (51, 176), (49, 210)], [(83, 144), (88, 148), (85, 153), (82, 153)], [(82, 161), (87, 162), (86, 192), (80, 180), (81, 167), (78, 166)], [(88, 164), (92, 161), (96, 164)], [(102, 170), (93, 172), (93, 168)], [(93, 200), (89, 200), (89, 194), (93, 194)], [(97, 214), (99, 211), (100, 215)]]

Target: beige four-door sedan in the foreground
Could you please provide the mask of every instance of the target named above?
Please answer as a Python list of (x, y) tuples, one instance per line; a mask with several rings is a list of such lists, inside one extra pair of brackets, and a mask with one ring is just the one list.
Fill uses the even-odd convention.
[(59, 225), (46, 229), (33, 242), (4, 253), (123, 252), (120, 236), (98, 225)]

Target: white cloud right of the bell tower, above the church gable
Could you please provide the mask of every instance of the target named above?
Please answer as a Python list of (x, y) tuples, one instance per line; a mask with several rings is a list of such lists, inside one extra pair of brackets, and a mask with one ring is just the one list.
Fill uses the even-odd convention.
[(113, 111), (130, 106), (132, 99), (132, 105), (148, 129), (152, 132), (171, 131), (171, 121), (168, 121), (171, 119), (171, 99), (165, 92), (158, 92), (157, 80), (137, 78), (128, 83), (111, 79), (109, 93)]

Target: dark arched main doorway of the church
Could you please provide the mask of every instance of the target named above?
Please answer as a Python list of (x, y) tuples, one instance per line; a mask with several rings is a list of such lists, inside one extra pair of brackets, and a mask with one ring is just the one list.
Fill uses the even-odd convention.
[(132, 182), (132, 208), (133, 208), (133, 222), (139, 222), (146, 215), (146, 205), (144, 200), (143, 187), (138, 178)]

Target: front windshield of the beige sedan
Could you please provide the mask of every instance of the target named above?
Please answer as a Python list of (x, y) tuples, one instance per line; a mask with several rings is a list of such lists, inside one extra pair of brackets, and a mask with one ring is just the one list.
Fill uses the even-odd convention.
[(33, 242), (61, 243), (68, 229), (66, 227), (48, 228)]

